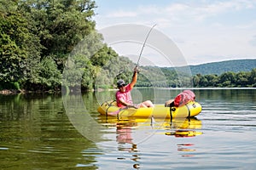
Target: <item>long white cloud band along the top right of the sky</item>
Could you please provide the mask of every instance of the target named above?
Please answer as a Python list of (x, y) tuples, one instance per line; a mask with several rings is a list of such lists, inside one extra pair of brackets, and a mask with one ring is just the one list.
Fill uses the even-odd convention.
[(172, 3), (162, 8), (159, 6), (145, 5), (143, 10), (138, 10), (137, 15), (144, 11), (151, 12), (154, 16), (164, 17), (172, 21), (202, 21), (219, 14), (230, 13), (247, 8), (255, 8), (253, 1), (227, 1), (217, 3)]

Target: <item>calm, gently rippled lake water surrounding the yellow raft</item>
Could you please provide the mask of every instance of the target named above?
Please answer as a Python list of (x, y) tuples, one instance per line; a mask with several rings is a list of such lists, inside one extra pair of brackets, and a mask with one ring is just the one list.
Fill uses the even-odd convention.
[[(163, 103), (180, 90), (135, 89)], [(254, 169), (256, 89), (195, 89), (192, 119), (99, 116), (114, 92), (0, 96), (1, 169)]]

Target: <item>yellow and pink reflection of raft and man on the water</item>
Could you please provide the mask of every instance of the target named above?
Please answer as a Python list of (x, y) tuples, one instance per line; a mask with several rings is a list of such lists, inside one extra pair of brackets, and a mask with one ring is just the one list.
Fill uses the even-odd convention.
[[(135, 161), (133, 168), (140, 167), (140, 160), (142, 152), (139, 150), (141, 143), (137, 143), (137, 133), (151, 133), (150, 135), (165, 135), (172, 136), (175, 138), (192, 138), (202, 133), (198, 130), (201, 129), (201, 120), (195, 117), (185, 119), (154, 119), (152, 118), (126, 118), (125, 120), (118, 120), (116, 117), (99, 116), (99, 122), (108, 127), (108, 133), (115, 133), (115, 139), (117, 149), (119, 151), (128, 152), (131, 157), (122, 155), (118, 156), (118, 160), (130, 159)], [(115, 129), (115, 132), (113, 132)], [(113, 136), (111, 136), (113, 138)], [(144, 136), (142, 135), (142, 138)], [(193, 143), (182, 143), (177, 144), (177, 151), (181, 152), (181, 156), (194, 156), (195, 144)]]

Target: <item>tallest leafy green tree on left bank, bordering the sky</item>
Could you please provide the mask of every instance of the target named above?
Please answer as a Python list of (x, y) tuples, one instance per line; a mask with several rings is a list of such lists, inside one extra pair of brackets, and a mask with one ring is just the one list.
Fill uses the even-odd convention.
[(63, 70), (67, 55), (91, 31), (95, 30), (95, 2), (90, 0), (20, 1), (19, 11), (35, 26), (40, 39), (41, 58), (52, 57)]

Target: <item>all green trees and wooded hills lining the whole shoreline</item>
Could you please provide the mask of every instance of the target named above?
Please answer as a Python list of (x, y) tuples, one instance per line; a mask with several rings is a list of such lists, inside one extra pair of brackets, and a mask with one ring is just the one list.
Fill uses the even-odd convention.
[[(62, 84), (90, 90), (116, 88), (120, 78), (131, 82), (135, 64), (103, 43), (92, 20), (95, 8), (93, 0), (0, 0), (0, 88), (45, 91)], [(256, 87), (255, 62), (192, 65), (194, 77), (183, 73), (185, 68), (141, 66), (136, 85)], [(211, 68), (228, 70), (206, 74)]]

